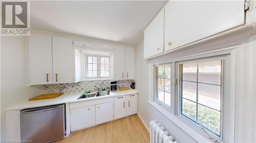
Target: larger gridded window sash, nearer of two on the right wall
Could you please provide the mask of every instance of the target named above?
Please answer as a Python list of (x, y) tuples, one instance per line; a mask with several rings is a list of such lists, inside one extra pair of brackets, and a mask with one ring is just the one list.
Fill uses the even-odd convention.
[(180, 113), (221, 136), (223, 60), (179, 65)]

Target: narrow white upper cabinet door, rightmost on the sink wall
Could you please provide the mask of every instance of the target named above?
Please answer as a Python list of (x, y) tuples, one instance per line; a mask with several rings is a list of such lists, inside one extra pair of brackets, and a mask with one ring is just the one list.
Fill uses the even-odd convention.
[(125, 48), (125, 79), (134, 79), (134, 48)]

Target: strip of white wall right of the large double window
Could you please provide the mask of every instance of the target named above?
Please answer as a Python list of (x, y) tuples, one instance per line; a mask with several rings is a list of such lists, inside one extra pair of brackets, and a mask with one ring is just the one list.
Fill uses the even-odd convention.
[(237, 48), (236, 142), (256, 142), (256, 36)]

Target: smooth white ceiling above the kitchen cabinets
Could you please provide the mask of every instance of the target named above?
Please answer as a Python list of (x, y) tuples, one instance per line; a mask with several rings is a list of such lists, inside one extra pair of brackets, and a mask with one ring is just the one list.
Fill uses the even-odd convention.
[(31, 1), (31, 28), (137, 45), (166, 1)]

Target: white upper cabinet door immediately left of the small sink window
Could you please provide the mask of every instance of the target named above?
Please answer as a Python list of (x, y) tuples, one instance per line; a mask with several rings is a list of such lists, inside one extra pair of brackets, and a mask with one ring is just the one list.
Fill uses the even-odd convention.
[(73, 82), (72, 40), (53, 37), (53, 83)]

